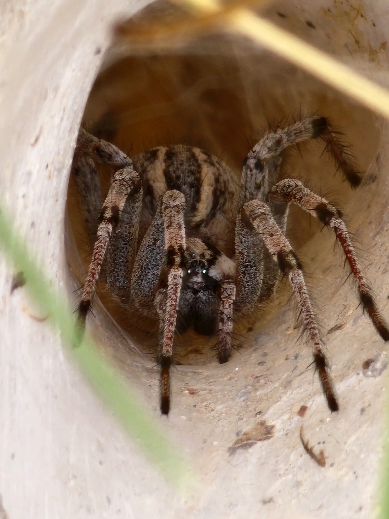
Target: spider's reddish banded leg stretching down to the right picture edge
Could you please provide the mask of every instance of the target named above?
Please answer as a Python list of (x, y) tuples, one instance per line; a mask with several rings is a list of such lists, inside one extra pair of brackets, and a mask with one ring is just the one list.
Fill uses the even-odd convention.
[(369, 314), (369, 317), (378, 333), (385, 341), (389, 340), (389, 327), (374, 302), (369, 283), (362, 273), (349, 232), (342, 220), (340, 211), (338, 211), (334, 206), (331, 206), (326, 199), (312, 193), (298, 180), (282, 180), (273, 187), (271, 197), (295, 203), (304, 211), (307, 211), (318, 218), (318, 220), (324, 225), (334, 229), (335, 235), (344, 251), (346, 260), (350, 265), (351, 272), (357, 281), (360, 301)]

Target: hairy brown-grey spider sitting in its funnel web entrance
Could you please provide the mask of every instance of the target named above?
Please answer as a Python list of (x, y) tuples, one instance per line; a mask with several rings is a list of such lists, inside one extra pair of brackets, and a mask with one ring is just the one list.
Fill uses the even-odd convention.
[[(360, 302), (389, 340), (340, 211), (298, 180), (279, 181), (284, 150), (310, 139), (324, 142), (352, 188), (360, 184), (352, 157), (324, 117), (266, 133), (244, 159), (240, 184), (223, 162), (199, 148), (161, 146), (130, 159), (80, 130), (73, 172), (95, 243), (77, 310), (79, 330), (85, 329), (103, 268), (113, 297), (159, 321), (162, 414), (170, 410), (175, 335), (188, 329), (217, 335), (218, 360), (227, 362), (234, 319), (253, 314), (282, 275), (296, 296), (328, 407), (338, 411), (302, 266), (285, 237), (290, 203), (334, 230)], [(114, 170), (104, 202), (97, 163)]]

